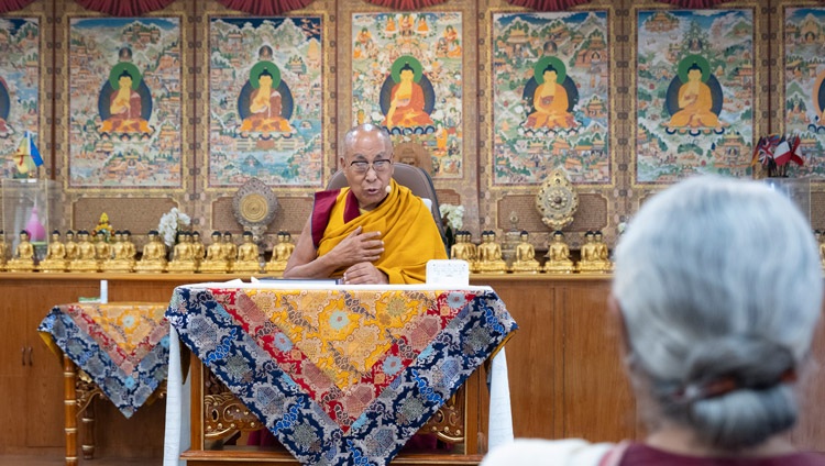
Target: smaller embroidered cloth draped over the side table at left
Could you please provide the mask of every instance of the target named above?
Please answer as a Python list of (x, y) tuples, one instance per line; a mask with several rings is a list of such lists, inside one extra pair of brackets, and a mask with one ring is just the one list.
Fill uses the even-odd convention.
[(56, 306), (37, 330), (131, 418), (166, 380), (169, 359), (167, 303), (119, 302)]

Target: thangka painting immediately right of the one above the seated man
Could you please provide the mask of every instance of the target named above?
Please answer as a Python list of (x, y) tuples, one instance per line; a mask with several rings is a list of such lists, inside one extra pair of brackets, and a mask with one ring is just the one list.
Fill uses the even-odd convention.
[(493, 15), (493, 182), (610, 180), (607, 12)]

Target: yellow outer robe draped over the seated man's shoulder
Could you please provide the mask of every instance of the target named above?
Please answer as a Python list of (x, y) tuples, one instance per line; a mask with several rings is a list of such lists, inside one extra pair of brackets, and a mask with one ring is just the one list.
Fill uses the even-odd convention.
[[(353, 230), (362, 226), (364, 232), (381, 232), (384, 253), (374, 264), (387, 275), (391, 284), (421, 284), (426, 280), (427, 260), (446, 259), (447, 249), (421, 198), (395, 180), (392, 180), (392, 186), (393, 190), (378, 207), (350, 221), (344, 221), (344, 214), (348, 210), (353, 212), (353, 207), (358, 208), (358, 204), (352, 206), (356, 200), (350, 195), (350, 188), (341, 189), (318, 243), (318, 256), (329, 253)], [(341, 277), (343, 273), (344, 268), (340, 268), (332, 276)]]

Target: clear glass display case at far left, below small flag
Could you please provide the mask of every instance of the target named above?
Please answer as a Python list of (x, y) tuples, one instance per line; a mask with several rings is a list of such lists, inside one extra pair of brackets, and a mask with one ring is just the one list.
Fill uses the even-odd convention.
[(56, 184), (45, 179), (2, 180), (2, 228), (13, 255), (20, 243), (20, 232), (29, 232), (36, 260), (46, 255), (50, 232), (56, 222)]

